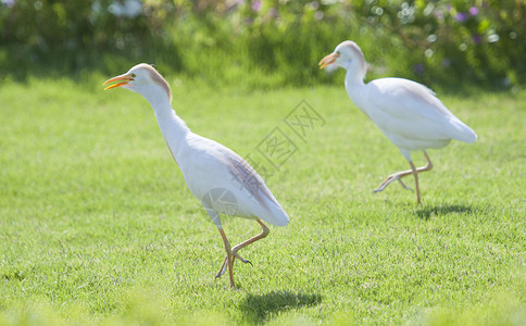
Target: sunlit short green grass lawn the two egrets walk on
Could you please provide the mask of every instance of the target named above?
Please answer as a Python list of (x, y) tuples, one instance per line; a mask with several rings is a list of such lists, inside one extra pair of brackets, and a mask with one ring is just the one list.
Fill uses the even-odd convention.
[[(524, 325), (526, 92), (440, 97), (479, 139), (429, 151), (417, 206), (372, 192), (409, 165), (342, 85), (168, 78), (189, 127), (266, 171), (290, 217), (242, 250), (231, 290), (151, 108), (107, 77), (0, 87), (0, 324)], [(320, 116), (300, 138), (284, 120), (302, 101)], [(297, 148), (279, 167), (261, 151), (276, 128)], [(223, 221), (233, 244), (259, 233)]]

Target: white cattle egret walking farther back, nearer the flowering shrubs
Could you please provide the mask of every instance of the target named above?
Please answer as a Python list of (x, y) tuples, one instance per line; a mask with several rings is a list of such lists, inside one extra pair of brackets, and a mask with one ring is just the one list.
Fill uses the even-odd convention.
[[(347, 70), (346, 90), (354, 104), (363, 111), (394, 143), (409, 161), (411, 170), (389, 175), (374, 192), (384, 190), (393, 180), (413, 174), (416, 202), (421, 203), (418, 173), (433, 168), (426, 149), (442, 148), (451, 139), (474, 142), (477, 135), (454, 116), (435, 93), (422, 84), (403, 78), (380, 78), (364, 84), (366, 63), (360, 47), (353, 41), (339, 43), (335, 51), (320, 61), (320, 67)], [(415, 167), (411, 151), (422, 150), (427, 164)]]

